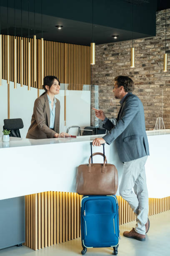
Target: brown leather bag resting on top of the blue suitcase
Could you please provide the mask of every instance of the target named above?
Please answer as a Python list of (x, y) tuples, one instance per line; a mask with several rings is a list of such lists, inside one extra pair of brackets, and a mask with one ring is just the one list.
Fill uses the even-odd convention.
[[(96, 155), (104, 157), (103, 164), (90, 163), (92, 156)], [(79, 195), (115, 195), (118, 187), (117, 169), (115, 165), (107, 164), (105, 154), (91, 154), (88, 164), (78, 166), (76, 187)]]

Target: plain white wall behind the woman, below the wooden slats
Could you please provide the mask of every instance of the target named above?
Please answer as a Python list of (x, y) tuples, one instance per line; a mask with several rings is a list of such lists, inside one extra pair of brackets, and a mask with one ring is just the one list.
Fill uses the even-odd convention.
[[(40, 95), (44, 90), (40, 90)], [(10, 82), (10, 118), (22, 118), (24, 128), (20, 129), (22, 138), (25, 138), (30, 126), (34, 101), (37, 98), (37, 89), (20, 87), (14, 89), (14, 83)], [(68, 126), (78, 125), (81, 128), (90, 125), (90, 91), (66, 91), (66, 119), (64, 127), (64, 90), (57, 95), (60, 100), (60, 132), (66, 131)], [(7, 118), (7, 82), (2, 80), (0, 87), (0, 137), (2, 136), (3, 120)], [(77, 134), (77, 129), (72, 129), (72, 135)]]

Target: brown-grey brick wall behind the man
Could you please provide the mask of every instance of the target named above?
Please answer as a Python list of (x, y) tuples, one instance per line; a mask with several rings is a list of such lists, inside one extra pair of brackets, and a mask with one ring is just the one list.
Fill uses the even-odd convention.
[[(143, 102), (146, 130), (155, 127), (156, 119), (162, 117), (165, 128), (170, 128), (170, 54), (168, 72), (163, 72), (165, 53), (165, 10), (157, 13), (156, 36), (134, 40), (135, 68), (130, 68), (132, 40), (96, 46), (96, 64), (91, 67), (91, 84), (99, 85), (99, 108), (108, 118), (117, 116), (119, 100), (115, 100), (114, 77), (126, 75), (135, 82), (135, 91)], [(167, 9), (167, 44), (170, 50), (170, 9)], [(92, 106), (94, 105), (92, 90)], [(163, 113), (163, 114), (162, 114)], [(94, 112), (91, 124), (96, 123)]]

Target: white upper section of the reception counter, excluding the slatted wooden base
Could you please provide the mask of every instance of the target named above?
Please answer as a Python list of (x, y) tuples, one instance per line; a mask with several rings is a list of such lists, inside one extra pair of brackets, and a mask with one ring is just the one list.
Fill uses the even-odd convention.
[[(170, 195), (170, 130), (147, 131), (150, 156), (146, 163), (149, 197), (162, 198)], [(23, 139), (10, 138), (9, 143), (0, 141), (1, 179), (0, 200), (44, 191), (76, 192), (77, 166), (86, 164), (90, 157), (90, 141), (102, 136), (77, 138)], [(94, 147), (93, 152), (102, 152)], [(105, 145), (110, 164), (115, 164), (122, 175), (115, 143)], [(102, 162), (100, 156), (94, 161)]]

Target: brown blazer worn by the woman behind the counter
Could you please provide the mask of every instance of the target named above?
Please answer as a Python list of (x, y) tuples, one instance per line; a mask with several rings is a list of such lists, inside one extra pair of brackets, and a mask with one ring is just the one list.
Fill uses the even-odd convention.
[(45, 95), (38, 97), (34, 102), (31, 125), (26, 138), (53, 138), (55, 133), (60, 133), (60, 101), (56, 99), (53, 131), (50, 129), (50, 106), (47, 93), (45, 93)]

